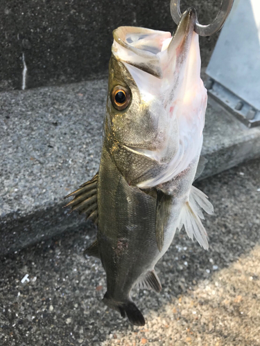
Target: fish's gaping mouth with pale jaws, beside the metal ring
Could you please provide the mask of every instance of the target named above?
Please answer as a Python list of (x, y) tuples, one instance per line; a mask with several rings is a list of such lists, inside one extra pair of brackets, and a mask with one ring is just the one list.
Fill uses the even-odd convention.
[(162, 79), (162, 55), (180, 54), (197, 21), (194, 8), (186, 10), (173, 36), (170, 32), (119, 26), (113, 31), (112, 53), (116, 59)]

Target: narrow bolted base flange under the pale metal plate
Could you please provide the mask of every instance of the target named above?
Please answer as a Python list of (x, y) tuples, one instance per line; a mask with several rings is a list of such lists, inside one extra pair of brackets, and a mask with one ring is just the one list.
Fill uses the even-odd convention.
[(236, 118), (248, 127), (260, 125), (260, 110), (252, 107), (245, 100), (229, 91), (225, 86), (219, 84), (213, 78), (209, 78), (205, 84), (208, 94), (225, 109), (230, 111)]

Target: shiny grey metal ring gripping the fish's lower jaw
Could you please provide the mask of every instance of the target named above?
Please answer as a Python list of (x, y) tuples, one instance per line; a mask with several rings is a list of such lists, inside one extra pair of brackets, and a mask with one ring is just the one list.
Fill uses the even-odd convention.
[[(223, 27), (230, 10), (232, 9), (234, 0), (222, 0), (218, 15), (209, 25), (202, 25), (198, 21), (195, 24), (194, 31), (200, 36), (210, 36)], [(175, 24), (179, 24), (182, 13), (180, 12), (180, 0), (171, 0), (171, 17)]]

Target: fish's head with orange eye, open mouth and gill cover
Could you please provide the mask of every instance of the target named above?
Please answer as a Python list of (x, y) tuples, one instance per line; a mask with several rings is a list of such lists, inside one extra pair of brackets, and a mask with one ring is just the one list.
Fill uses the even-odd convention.
[(190, 9), (173, 36), (128, 26), (114, 30), (105, 138), (132, 185), (162, 183), (187, 145), (197, 140), (201, 149), (207, 93), (200, 80), (195, 23), (196, 12)]

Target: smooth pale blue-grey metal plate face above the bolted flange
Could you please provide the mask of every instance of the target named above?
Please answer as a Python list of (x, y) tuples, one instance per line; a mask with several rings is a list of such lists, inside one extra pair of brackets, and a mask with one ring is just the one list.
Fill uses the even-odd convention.
[(260, 110), (260, 0), (234, 1), (206, 73)]

